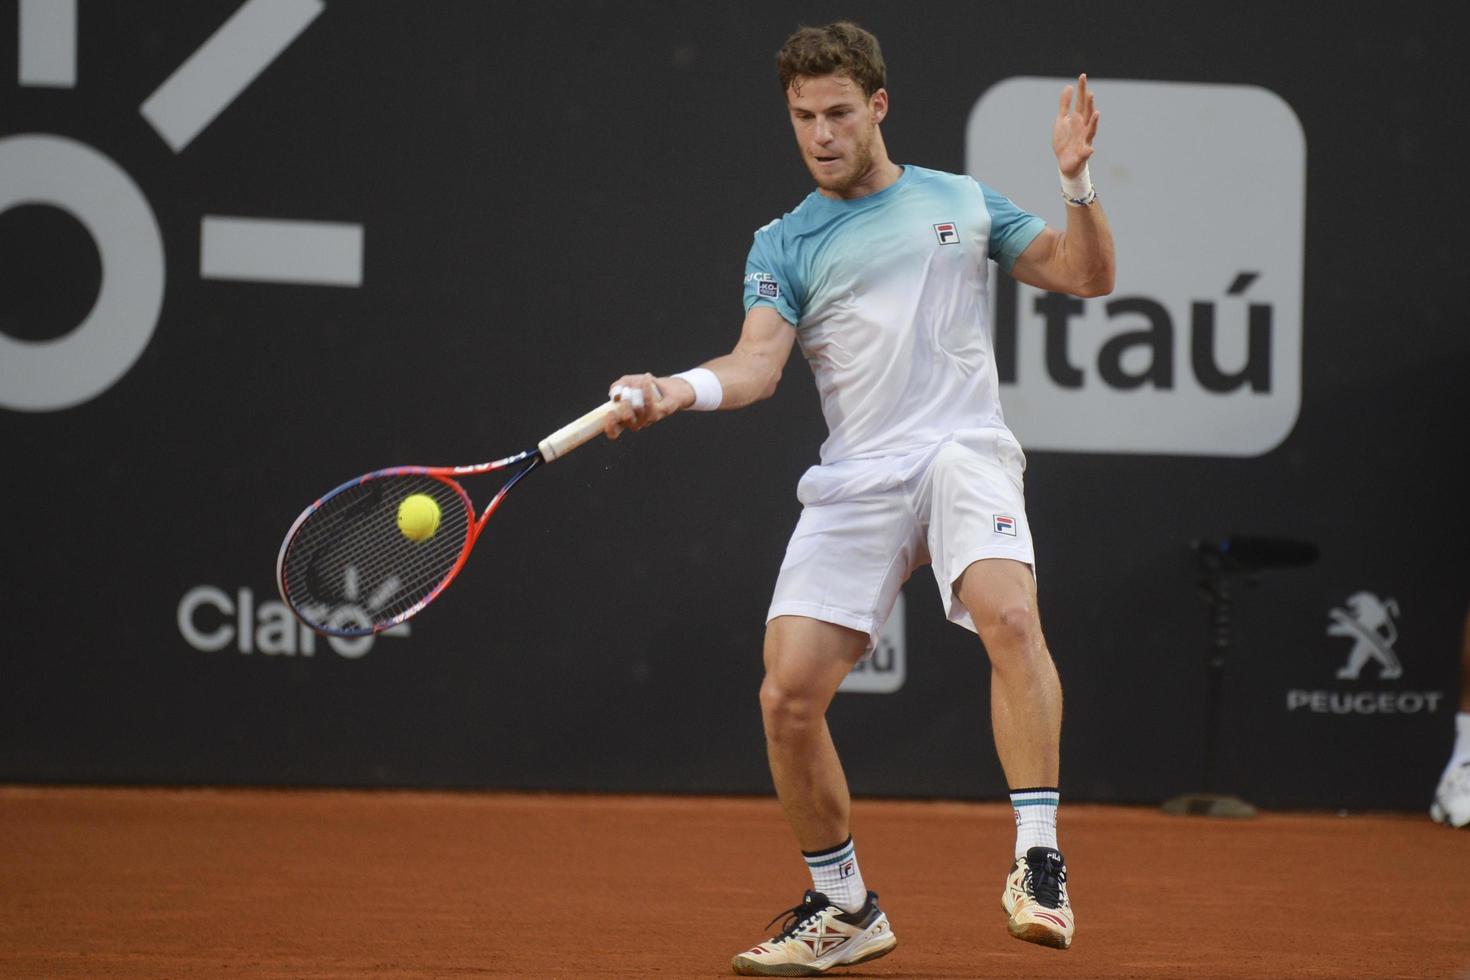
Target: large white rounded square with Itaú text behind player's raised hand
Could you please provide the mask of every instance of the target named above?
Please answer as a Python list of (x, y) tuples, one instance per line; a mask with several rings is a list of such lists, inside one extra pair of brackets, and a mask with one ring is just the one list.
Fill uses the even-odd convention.
[[(1054, 228), (1067, 206), (1050, 119), (1075, 82), (998, 82), (966, 132), (966, 170)], [(1005, 422), (1028, 450), (1269, 453), (1301, 408), (1301, 123), (1257, 87), (1088, 85), (1102, 115), (1089, 169), (1117, 282), (1080, 300), (992, 269)]]

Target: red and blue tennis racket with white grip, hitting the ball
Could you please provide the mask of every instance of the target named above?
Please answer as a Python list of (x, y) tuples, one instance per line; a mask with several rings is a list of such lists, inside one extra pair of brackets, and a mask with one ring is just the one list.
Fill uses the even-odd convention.
[[(328, 636), (366, 636), (397, 626), (454, 580), (512, 486), (595, 436), (613, 411), (613, 401), (601, 404), (537, 448), (494, 463), (394, 466), (328, 491), (295, 519), (281, 544), (281, 598), (303, 623)], [(459, 478), (495, 470), (513, 472), (476, 519)], [(409, 498), (432, 504), (404, 504)], [(416, 507), (419, 519), (409, 530), (400, 526), (406, 507)]]

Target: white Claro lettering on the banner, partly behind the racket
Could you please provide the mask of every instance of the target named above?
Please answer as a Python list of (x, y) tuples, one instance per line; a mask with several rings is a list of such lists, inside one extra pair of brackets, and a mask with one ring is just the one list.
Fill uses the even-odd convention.
[[(375, 636), (318, 636), (291, 614), (281, 599), (256, 601), (256, 594), (241, 586), (234, 594), (213, 585), (196, 585), (178, 607), (179, 635), (184, 642), (204, 652), (234, 648), (241, 654), (315, 657), (318, 644), (357, 660), (372, 649)], [(409, 624), (400, 623), (382, 636), (407, 636)]]

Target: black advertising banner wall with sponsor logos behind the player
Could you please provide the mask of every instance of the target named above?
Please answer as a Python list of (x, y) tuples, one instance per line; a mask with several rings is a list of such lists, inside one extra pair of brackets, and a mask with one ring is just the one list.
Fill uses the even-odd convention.
[[(497, 458), (729, 350), (753, 232), (810, 190), (775, 50), (851, 16), (894, 159), (1051, 223), (1057, 93), (1086, 71), (1102, 110), (1117, 288), (992, 288), (1067, 796), (1427, 805), (1470, 602), (1452, 40), (1413, 4), (992, 15), (0, 3), (0, 780), (764, 792), (800, 359), (532, 473), (390, 633), (306, 630), (275, 558), (354, 473)], [(1222, 608), (1239, 536), (1316, 560), (1223, 573)], [(936, 598), (914, 576), (833, 705), (856, 792), (1004, 792)]]

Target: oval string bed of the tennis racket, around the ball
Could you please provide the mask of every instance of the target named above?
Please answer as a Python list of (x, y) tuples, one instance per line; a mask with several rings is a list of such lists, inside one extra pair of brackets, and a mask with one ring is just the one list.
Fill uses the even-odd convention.
[[(413, 541), (398, 527), (409, 497), (429, 497), (438, 527)], [(390, 626), (428, 599), (465, 552), (475, 514), (451, 482), (422, 473), (365, 479), (325, 498), (287, 545), (282, 586), (307, 623), (334, 633)]]

